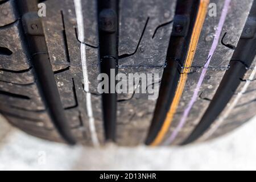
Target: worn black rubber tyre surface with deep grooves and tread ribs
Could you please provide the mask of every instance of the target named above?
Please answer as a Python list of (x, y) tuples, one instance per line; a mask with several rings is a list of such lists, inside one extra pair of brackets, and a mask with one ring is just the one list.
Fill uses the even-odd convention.
[[(39, 2), (46, 4), (46, 17), (38, 16)], [(200, 1), (77, 2), (82, 11), (80, 20), (71, 0), (0, 0), (0, 113), (26, 133), (55, 142), (150, 144), (174, 98)], [(191, 72), (165, 138), (179, 125), (209, 53), (224, 6), (224, 1), (212, 2), (217, 5), (217, 16), (207, 14)], [(255, 61), (256, 7), (252, 2), (231, 1), (200, 95), (172, 144), (199, 139), (246, 81), (244, 76)], [(250, 20), (245, 23), (249, 11)], [(79, 40), (77, 23), (81, 21), (84, 40)], [(147, 85), (146, 94), (136, 92), (142, 88), (141, 81), (129, 82), (133, 93), (114, 90), (100, 94), (97, 77), (100, 73), (110, 77), (110, 69), (114, 76), (153, 73), (159, 78)], [(86, 78), (89, 88), (85, 91)], [(139, 75), (136, 78), (140, 79)], [(115, 88), (117, 81), (109, 80), (109, 84)], [(148, 99), (151, 85), (159, 92), (158, 100)], [(109, 92), (113, 91), (110, 87)], [(249, 91), (254, 93), (255, 89)], [(254, 100), (246, 97), (236, 109)], [(232, 129), (245, 122), (246, 115), (255, 115), (251, 110), (239, 114), (237, 118), (243, 117), (240, 123), (228, 124)], [(232, 117), (236, 118), (234, 113)], [(224, 127), (217, 133), (229, 130)]]

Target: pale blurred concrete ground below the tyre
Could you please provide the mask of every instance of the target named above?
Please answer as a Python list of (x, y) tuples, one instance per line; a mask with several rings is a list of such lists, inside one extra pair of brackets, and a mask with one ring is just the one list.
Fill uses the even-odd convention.
[(69, 147), (31, 137), (1, 118), (0, 128), (0, 170), (256, 169), (256, 118), (225, 137), (187, 147)]

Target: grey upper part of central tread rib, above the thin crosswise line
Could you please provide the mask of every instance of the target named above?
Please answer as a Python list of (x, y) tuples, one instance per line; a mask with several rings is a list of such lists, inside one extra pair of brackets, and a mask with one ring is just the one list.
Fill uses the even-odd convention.
[(119, 59), (119, 65), (165, 64), (172, 23), (158, 27), (173, 20), (175, 5), (172, 0), (120, 1), (119, 56), (130, 56)]

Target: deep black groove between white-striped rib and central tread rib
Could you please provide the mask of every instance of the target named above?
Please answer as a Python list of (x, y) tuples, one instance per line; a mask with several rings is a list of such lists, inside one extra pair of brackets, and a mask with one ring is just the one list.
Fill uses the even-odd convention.
[[(100, 46), (101, 73), (111, 77), (118, 73), (118, 2), (117, 0), (98, 0), (98, 32)], [(109, 26), (109, 23), (111, 25)], [(105, 138), (115, 141), (117, 117), (117, 93), (115, 82), (109, 80), (109, 93), (102, 94)]]

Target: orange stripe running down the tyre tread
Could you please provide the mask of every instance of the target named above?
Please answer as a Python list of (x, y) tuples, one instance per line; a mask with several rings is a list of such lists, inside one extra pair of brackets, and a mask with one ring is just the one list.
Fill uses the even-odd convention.
[(199, 10), (196, 16), (195, 26), (193, 28), (191, 42), (189, 43), (188, 55), (185, 60), (184, 64), (184, 72), (180, 75), (179, 84), (177, 85), (177, 89), (175, 92), (174, 100), (170, 106), (170, 109), (166, 115), (166, 119), (164, 119), (164, 123), (162, 128), (160, 129), (158, 135), (156, 136), (155, 140), (150, 144), (151, 146), (157, 146), (160, 144), (166, 135), (171, 123), (172, 119), (174, 118), (174, 114), (176, 113), (177, 106), (179, 105), (179, 101), (181, 95), (183, 93), (185, 83), (187, 81), (187, 73), (189, 73), (191, 64), (193, 61), (193, 57), (195, 56), (197, 43), (199, 41), (200, 33), (203, 27), (203, 23), (205, 20), (205, 16), (207, 14), (209, 0), (201, 0), (199, 5)]

